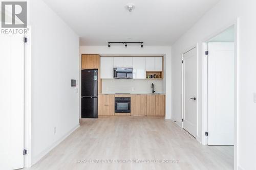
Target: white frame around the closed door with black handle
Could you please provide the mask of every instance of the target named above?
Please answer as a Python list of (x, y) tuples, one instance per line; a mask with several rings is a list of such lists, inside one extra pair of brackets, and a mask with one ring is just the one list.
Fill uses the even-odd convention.
[[(184, 54), (186, 54), (187, 52), (193, 50), (194, 48), (197, 49), (197, 123), (196, 123), (196, 127), (197, 127), (197, 134), (195, 136), (195, 138), (198, 140), (198, 44), (196, 45), (193, 45), (191, 47), (188, 48), (188, 50), (186, 50), (184, 53), (182, 53), (182, 92), (181, 92), (181, 118), (182, 120), (184, 119), (184, 102), (185, 102), (185, 99), (184, 99), (184, 89), (185, 89), (185, 85), (184, 85), (184, 64), (183, 64), (183, 60), (184, 60)], [(181, 120), (181, 128), (183, 128), (183, 121)]]

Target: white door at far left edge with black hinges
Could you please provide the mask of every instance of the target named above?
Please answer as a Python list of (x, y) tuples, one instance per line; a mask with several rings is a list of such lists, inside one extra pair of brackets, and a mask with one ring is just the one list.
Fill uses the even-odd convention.
[(23, 37), (0, 34), (0, 169), (24, 167)]

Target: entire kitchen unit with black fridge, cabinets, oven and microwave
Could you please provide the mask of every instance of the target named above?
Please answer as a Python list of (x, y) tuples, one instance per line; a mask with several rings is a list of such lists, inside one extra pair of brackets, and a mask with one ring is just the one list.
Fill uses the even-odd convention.
[(164, 57), (81, 55), (81, 118), (165, 116)]

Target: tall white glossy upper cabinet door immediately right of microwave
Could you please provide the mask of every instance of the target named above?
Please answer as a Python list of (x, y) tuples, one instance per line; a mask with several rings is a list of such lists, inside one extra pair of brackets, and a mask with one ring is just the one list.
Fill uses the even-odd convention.
[(133, 57), (133, 79), (146, 78), (146, 57)]

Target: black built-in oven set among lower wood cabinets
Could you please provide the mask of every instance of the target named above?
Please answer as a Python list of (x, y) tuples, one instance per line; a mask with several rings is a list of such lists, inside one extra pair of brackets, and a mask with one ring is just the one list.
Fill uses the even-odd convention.
[(131, 98), (115, 98), (115, 113), (131, 113)]

